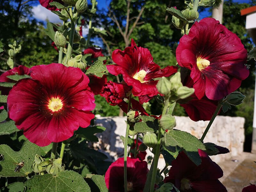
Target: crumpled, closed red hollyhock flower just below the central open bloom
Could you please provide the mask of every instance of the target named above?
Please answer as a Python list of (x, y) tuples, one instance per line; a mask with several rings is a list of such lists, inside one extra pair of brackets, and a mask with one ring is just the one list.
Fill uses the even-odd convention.
[(105, 97), (108, 103), (110, 102), (109, 105), (115, 106), (121, 103), (130, 91), (131, 87), (126, 84), (108, 81), (108, 83), (104, 84), (100, 95)]

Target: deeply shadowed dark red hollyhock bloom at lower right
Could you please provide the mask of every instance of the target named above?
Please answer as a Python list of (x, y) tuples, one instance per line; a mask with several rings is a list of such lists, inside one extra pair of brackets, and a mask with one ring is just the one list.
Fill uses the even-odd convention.
[(201, 149), (198, 149), (198, 153), (202, 159), (199, 166), (196, 166), (184, 152), (179, 153), (172, 161), (169, 176), (165, 177), (164, 182), (173, 183), (180, 192), (227, 192), (218, 180), (223, 176), (220, 166)]

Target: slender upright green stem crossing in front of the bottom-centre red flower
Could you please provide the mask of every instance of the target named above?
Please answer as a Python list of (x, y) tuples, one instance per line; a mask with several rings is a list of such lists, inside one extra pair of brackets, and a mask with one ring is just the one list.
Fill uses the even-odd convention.
[[(127, 113), (130, 110), (132, 100), (132, 94), (129, 96)], [(125, 140), (124, 140), (124, 191), (127, 192), (127, 146), (128, 146), (128, 137), (129, 137), (130, 124), (127, 121)]]

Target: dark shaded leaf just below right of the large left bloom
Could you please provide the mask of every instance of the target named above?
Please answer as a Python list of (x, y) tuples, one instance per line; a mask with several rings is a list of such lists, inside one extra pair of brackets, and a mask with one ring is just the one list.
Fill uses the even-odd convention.
[(78, 137), (85, 138), (89, 141), (98, 142), (99, 139), (94, 134), (101, 133), (105, 130), (106, 128), (101, 126), (93, 126), (93, 127), (87, 127), (87, 128), (79, 127), (78, 130), (75, 132), (75, 134), (77, 134)]

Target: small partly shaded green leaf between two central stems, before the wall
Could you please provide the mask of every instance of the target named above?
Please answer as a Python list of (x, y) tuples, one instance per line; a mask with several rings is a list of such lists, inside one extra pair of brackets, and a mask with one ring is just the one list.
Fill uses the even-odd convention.
[(130, 135), (135, 135), (138, 133), (154, 132), (158, 130), (158, 121), (155, 117), (151, 116), (141, 116), (141, 122), (135, 123), (134, 130), (131, 130)]

